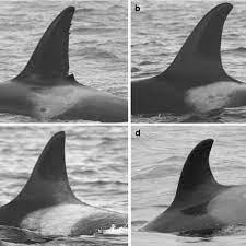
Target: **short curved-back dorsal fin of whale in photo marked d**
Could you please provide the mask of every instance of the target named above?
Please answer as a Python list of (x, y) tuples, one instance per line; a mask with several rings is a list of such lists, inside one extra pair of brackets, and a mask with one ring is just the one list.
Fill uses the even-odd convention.
[(218, 184), (210, 169), (209, 155), (212, 144), (212, 139), (203, 140), (188, 155), (169, 209), (204, 203), (227, 187)]

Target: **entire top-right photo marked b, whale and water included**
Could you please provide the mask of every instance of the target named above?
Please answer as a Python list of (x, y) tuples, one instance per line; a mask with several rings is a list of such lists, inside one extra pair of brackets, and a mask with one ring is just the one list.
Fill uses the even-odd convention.
[(245, 10), (245, 1), (132, 3), (132, 122), (246, 122)]

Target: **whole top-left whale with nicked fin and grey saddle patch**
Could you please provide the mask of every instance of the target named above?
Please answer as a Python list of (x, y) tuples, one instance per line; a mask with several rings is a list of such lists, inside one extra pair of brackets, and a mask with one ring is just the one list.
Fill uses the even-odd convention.
[(24, 70), (0, 84), (0, 113), (50, 119), (127, 121), (127, 102), (79, 83), (69, 74), (68, 7), (49, 25)]

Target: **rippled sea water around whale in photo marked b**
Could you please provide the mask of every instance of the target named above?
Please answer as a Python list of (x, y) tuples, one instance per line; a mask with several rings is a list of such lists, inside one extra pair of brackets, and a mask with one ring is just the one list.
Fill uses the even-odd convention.
[[(131, 74), (132, 80), (151, 78), (173, 61), (186, 38), (201, 17), (221, 0), (139, 0), (140, 12), (132, 2)], [(246, 2), (234, 5), (225, 21), (222, 37), (222, 62), (225, 71), (246, 82)], [(132, 116), (134, 122), (241, 122), (246, 121), (246, 107), (226, 108), (207, 115), (160, 114)]]

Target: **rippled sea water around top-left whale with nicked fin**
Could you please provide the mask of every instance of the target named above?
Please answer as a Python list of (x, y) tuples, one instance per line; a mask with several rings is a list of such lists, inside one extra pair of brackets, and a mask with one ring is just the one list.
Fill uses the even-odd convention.
[[(1, 0), (0, 82), (22, 71), (51, 21), (69, 5), (77, 9), (70, 73), (82, 84), (127, 98), (127, 1), (120, 0)], [(0, 121), (36, 120), (1, 114)]]

